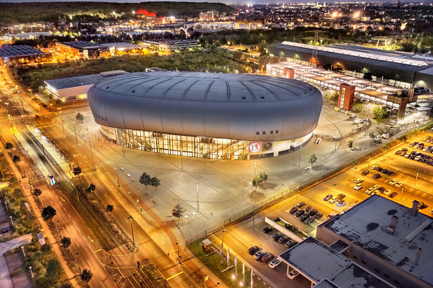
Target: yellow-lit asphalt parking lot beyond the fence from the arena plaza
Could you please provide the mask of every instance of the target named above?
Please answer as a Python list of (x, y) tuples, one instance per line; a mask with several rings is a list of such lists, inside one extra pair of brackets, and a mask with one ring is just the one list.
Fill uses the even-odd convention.
[[(230, 250), (236, 251), (242, 258), (246, 259), (263, 278), (271, 279), (272, 282), (275, 283), (282, 283), (279, 287), (310, 287), (310, 282), (302, 275), (293, 280), (289, 279), (286, 275), (287, 265), (284, 263), (275, 267), (275, 269), (271, 269), (268, 267), (267, 263), (257, 261), (247, 253), (247, 250), (255, 245), (269, 253), (273, 253), (275, 257), (288, 249), (283, 244), (271, 239), (271, 236), (278, 232), (276, 229), (271, 230), (267, 234), (262, 232), (262, 228), (267, 225), (265, 224), (265, 217), (271, 219), (280, 217), (314, 237), (316, 227), (326, 220), (328, 214), (342, 213), (344, 209), (349, 208), (349, 206), (353, 205), (356, 201), (361, 202), (368, 198), (370, 195), (366, 194), (365, 191), (374, 185), (384, 187), (385, 189), (391, 190), (391, 192), (397, 192), (398, 194), (394, 198), (388, 197), (390, 194), (384, 195), (383, 193), (378, 193), (378, 195), (401, 203), (402, 205), (411, 207), (412, 201), (414, 200), (424, 202), (424, 206), (420, 209), (420, 212), (430, 215), (430, 209), (433, 208), (433, 182), (431, 182), (433, 166), (395, 154), (395, 152), (401, 150), (402, 147), (407, 147), (408, 152), (417, 150), (409, 147), (409, 144), (414, 141), (421, 141), (426, 135), (433, 137), (433, 133), (428, 131), (424, 133), (424, 135), (417, 136), (403, 143), (403, 146), (398, 145), (395, 148), (387, 150), (385, 155), (381, 154), (372, 158), (369, 162), (351, 167), (268, 209), (260, 211), (254, 218), (251, 217), (238, 224), (225, 227), (225, 245), (230, 247)], [(417, 151), (420, 150), (418, 149)], [(427, 153), (423, 152), (423, 154)], [(394, 173), (388, 176), (384, 173), (371, 170), (370, 167), (373, 165), (392, 170)], [(362, 175), (362, 171), (366, 169), (368, 169), (370, 173)], [(372, 177), (376, 173), (379, 173), (381, 177), (373, 179)], [(417, 173), (419, 173), (418, 177)], [(363, 179), (361, 182), (362, 189), (356, 191), (353, 187), (356, 185), (354, 181), (358, 178)], [(403, 185), (400, 188), (389, 185), (388, 182), (393, 179), (403, 182)], [(336, 206), (336, 203), (331, 204), (328, 201), (323, 201), (326, 195), (337, 196), (340, 193), (346, 195), (344, 198), (345, 203), (341, 207)], [(323, 217), (310, 225), (299, 221), (298, 218), (288, 213), (298, 202), (305, 202), (306, 205), (310, 205), (312, 209), (323, 212)], [(305, 206), (303, 208), (305, 208)], [(222, 230), (214, 233), (214, 236), (221, 239)]]

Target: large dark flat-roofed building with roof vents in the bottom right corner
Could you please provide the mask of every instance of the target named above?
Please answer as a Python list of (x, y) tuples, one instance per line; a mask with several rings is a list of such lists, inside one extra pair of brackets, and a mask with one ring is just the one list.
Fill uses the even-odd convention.
[(340, 253), (396, 287), (432, 288), (433, 218), (418, 212), (419, 203), (373, 195), (320, 224), (316, 238), (339, 243)]

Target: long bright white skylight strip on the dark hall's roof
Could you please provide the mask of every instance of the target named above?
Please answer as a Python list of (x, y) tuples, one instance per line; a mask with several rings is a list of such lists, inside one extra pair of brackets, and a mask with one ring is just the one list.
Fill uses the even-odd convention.
[[(300, 47), (300, 48), (308, 48), (308, 49), (314, 48), (314, 45), (289, 42), (289, 41), (284, 41), (281, 44), (282, 45), (288, 45), (288, 46), (294, 46), (294, 47)], [(333, 47), (329, 47), (329, 46), (317, 46), (317, 50), (331, 52), (331, 53), (344, 54), (344, 55), (351, 55), (351, 56), (355, 56), (355, 57), (368, 58), (368, 59), (373, 59), (373, 60), (381, 60), (381, 61), (387, 61), (387, 62), (406, 64), (406, 65), (411, 65), (411, 66), (418, 66), (418, 67), (428, 65), (426, 62), (418, 61), (418, 60), (412, 60), (412, 59), (407, 59), (407, 58), (398, 58), (398, 57), (392, 57), (392, 56), (382, 55), (382, 54), (365, 53), (365, 52), (361, 52), (361, 51), (354, 51), (354, 50), (347, 50), (347, 49), (340, 49), (340, 48), (333, 48)]]

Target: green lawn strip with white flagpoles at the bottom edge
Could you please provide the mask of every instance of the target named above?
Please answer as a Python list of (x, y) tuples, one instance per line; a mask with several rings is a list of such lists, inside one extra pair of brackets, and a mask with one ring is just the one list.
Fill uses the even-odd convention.
[[(195, 256), (197, 256), (198, 259), (201, 260), (201, 262), (204, 263), (204, 265), (206, 265), (216, 276), (218, 276), (224, 282), (224, 284), (226, 284), (230, 288), (251, 287), (251, 272), (247, 267), (245, 267), (245, 283), (242, 283), (242, 262), (239, 262), (239, 260), (237, 261), (237, 276), (234, 278), (233, 276), (235, 275), (235, 267), (228, 271), (221, 272), (227, 268), (227, 262), (222, 259), (222, 257), (218, 253), (213, 253), (211, 256), (206, 256), (207, 254), (210, 254), (210, 250), (203, 250), (203, 247), (201, 246), (201, 241), (203, 240), (204, 238), (201, 238), (192, 242), (190, 245), (188, 245), (188, 248), (191, 250), (192, 253), (194, 253)], [(221, 262), (223, 262), (223, 264), (221, 264)], [(232, 266), (233, 263), (234, 257), (230, 255), (230, 266)], [(252, 287), (267, 288), (268, 286), (263, 284), (263, 281), (259, 280), (256, 276), (253, 276)]]

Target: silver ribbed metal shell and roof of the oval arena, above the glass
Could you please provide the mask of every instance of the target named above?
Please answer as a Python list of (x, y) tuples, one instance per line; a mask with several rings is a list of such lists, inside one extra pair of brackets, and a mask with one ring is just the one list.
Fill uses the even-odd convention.
[(298, 80), (198, 72), (114, 76), (87, 95), (100, 125), (249, 141), (311, 133), (323, 103), (317, 88)]

